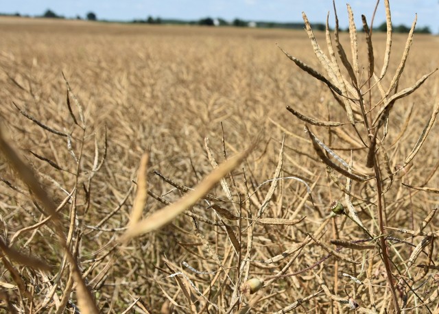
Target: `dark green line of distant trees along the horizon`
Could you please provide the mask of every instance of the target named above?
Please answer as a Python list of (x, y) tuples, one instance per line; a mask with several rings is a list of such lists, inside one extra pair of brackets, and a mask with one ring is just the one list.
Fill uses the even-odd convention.
[[(0, 13), (0, 16), (21, 16), (20, 13), (14, 14), (3, 14)], [(29, 17), (29, 16), (26, 16)], [(49, 19), (65, 19), (64, 16), (56, 14), (54, 11), (47, 9), (46, 12), (37, 17), (45, 17)], [(81, 16), (77, 15), (76, 19), (82, 19)], [(88, 21), (97, 21), (97, 15), (94, 12), (88, 12), (84, 19)], [(205, 26), (235, 26), (235, 27), (262, 27), (262, 28), (287, 28), (287, 29), (302, 29), (304, 27), (303, 23), (279, 23), (279, 22), (267, 22), (267, 21), (244, 21), (241, 19), (234, 19), (233, 21), (226, 21), (225, 19), (217, 18), (213, 19), (208, 16), (202, 18), (198, 21), (182, 21), (176, 19), (161, 19), (160, 17), (154, 18), (153, 16), (147, 16), (146, 19), (134, 19), (130, 23), (146, 23), (146, 24), (177, 24), (177, 25), (205, 25)], [(311, 27), (316, 31), (324, 31), (326, 26), (324, 23), (311, 23)], [(410, 27), (406, 25), (394, 25), (392, 29), (396, 33), (408, 33), (410, 32)], [(340, 31), (346, 31), (347, 29), (340, 29)], [(374, 27), (374, 32), (387, 32), (387, 24), (383, 22), (378, 27)], [(428, 26), (418, 27), (415, 29), (416, 33), (420, 34), (431, 34), (431, 29)]]

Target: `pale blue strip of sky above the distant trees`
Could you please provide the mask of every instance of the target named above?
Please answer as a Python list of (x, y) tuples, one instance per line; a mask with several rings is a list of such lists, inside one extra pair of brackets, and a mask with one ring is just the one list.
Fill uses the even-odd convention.
[[(346, 27), (346, 0), (336, 0), (340, 26)], [(361, 25), (361, 14), (370, 21), (376, 0), (353, 0), (351, 4), (357, 25)], [(0, 12), (21, 14), (43, 14), (50, 8), (64, 16), (84, 16), (93, 11), (98, 19), (129, 21), (145, 19), (147, 16), (198, 20), (202, 17), (240, 18), (254, 21), (302, 21), (302, 11), (311, 22), (322, 22), (328, 11), (333, 12), (332, 0), (0, 0)], [(390, 0), (394, 25), (411, 25), (418, 13), (418, 26), (429, 26), (439, 32), (439, 0)], [(375, 25), (385, 20), (383, 0), (375, 18)], [(330, 19), (330, 21), (333, 21)], [(332, 23), (333, 24), (333, 23)]]

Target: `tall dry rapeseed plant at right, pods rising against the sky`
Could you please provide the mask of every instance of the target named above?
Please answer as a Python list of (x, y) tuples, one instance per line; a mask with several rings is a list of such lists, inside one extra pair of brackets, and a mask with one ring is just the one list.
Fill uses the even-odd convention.
[[(329, 56), (325, 54), (322, 49), (320, 49), (316, 38), (311, 30), (311, 25), (307, 20), (307, 16), (304, 13), (303, 19), (305, 21), (305, 29), (311, 40), (311, 44), (313, 46), (313, 51), (316, 53), (320, 64), (324, 68), (327, 73), (327, 77), (319, 73), (316, 69), (309, 67), (304, 62), (294, 58), (289, 53), (282, 51), (287, 55), (289, 59), (291, 59), (300, 69), (309, 73), (309, 75), (315, 77), (316, 79), (324, 82), (330, 88), (333, 97), (339, 104), (344, 105), (344, 109), (346, 111), (346, 115), (348, 121), (351, 123), (351, 132), (352, 134), (356, 134), (357, 140), (359, 140), (364, 145), (364, 154), (359, 154), (351, 160), (351, 165), (348, 165), (340, 156), (337, 156), (327, 145), (324, 145), (319, 139), (318, 136), (313, 134), (309, 130), (307, 125), (316, 125), (320, 128), (328, 128), (329, 132), (331, 132), (331, 128), (337, 128), (342, 125), (339, 122), (333, 121), (317, 121), (311, 117), (307, 117), (304, 114), (300, 114), (296, 110), (290, 108), (287, 109), (292, 112), (298, 119), (305, 121), (307, 125), (305, 126), (305, 132), (309, 135), (311, 142), (313, 144), (313, 148), (327, 167), (329, 169), (333, 169), (346, 180), (346, 189), (340, 189), (342, 193), (345, 195), (345, 200), (348, 208), (350, 208), (350, 213), (355, 215), (355, 210), (353, 209), (353, 205), (351, 203), (350, 197), (351, 194), (351, 181), (355, 180), (357, 182), (366, 182), (364, 184), (369, 184), (374, 191), (375, 195), (371, 199), (372, 204), (374, 205), (372, 208), (372, 215), (377, 217), (378, 230), (373, 232), (372, 230), (366, 230), (364, 225), (361, 224), (361, 221), (355, 221), (361, 228), (364, 228), (368, 237), (370, 237), (370, 241), (375, 241), (377, 244), (378, 254), (385, 266), (385, 273), (388, 280), (388, 287), (390, 288), (390, 293), (392, 295), (393, 301), (393, 309), (392, 311), (396, 313), (400, 313), (401, 311), (405, 311), (407, 308), (407, 298), (409, 293), (413, 293), (415, 298), (418, 298), (417, 302), (420, 302), (425, 306), (425, 309), (431, 313), (431, 309), (429, 309), (429, 305), (425, 304), (423, 298), (418, 295), (414, 290), (413, 284), (418, 284), (415, 278), (412, 276), (404, 278), (406, 274), (410, 273), (410, 268), (413, 265), (413, 262), (407, 263), (405, 265), (405, 271), (401, 269), (400, 263), (394, 260), (394, 256), (390, 255), (390, 243), (388, 239), (390, 239), (385, 232), (385, 224), (391, 224), (391, 221), (385, 221), (385, 197), (386, 193), (389, 191), (390, 186), (392, 186), (394, 176), (399, 171), (403, 171), (405, 167), (411, 165), (412, 160), (419, 152), (420, 147), (423, 145), (425, 138), (429, 134), (431, 127), (436, 119), (436, 115), (439, 110), (439, 101), (438, 104), (435, 105), (434, 112), (431, 114), (431, 118), (429, 122), (425, 126), (423, 132), (420, 134), (418, 141), (415, 147), (412, 149), (412, 152), (408, 154), (403, 162), (403, 166), (399, 167), (396, 171), (392, 171), (390, 167), (390, 160), (386, 153), (385, 144), (388, 142), (389, 130), (389, 120), (392, 112), (392, 108), (397, 100), (406, 97), (413, 93), (417, 88), (419, 88), (427, 78), (433, 74), (437, 69), (423, 75), (420, 79), (414, 83), (411, 87), (404, 88), (403, 90), (398, 91), (397, 86), (399, 86), (399, 80), (403, 73), (405, 62), (407, 61), (407, 57), (410, 52), (410, 47), (412, 45), (412, 40), (414, 36), (414, 27), (416, 25), (416, 18), (412, 24), (412, 28), (410, 29), (410, 34), (407, 38), (407, 43), (405, 45), (405, 49), (403, 52), (403, 56), (401, 58), (401, 62), (399, 67), (396, 69), (396, 73), (392, 77), (392, 80), (387, 88), (384, 87), (383, 80), (388, 73), (388, 65), (390, 60), (390, 53), (392, 51), (392, 22), (390, 16), (390, 4), (389, 1), (385, 2), (385, 12), (387, 16), (387, 29), (388, 29), (388, 39), (387, 45), (385, 49), (385, 56), (383, 67), (379, 74), (375, 73), (375, 57), (372, 45), (372, 31), (369, 29), (365, 16), (362, 17), (364, 33), (366, 34), (366, 45), (368, 52), (368, 64), (366, 74), (360, 73), (359, 66), (359, 56), (358, 56), (358, 43), (357, 43), (357, 29), (355, 27), (355, 22), (353, 18), (353, 12), (351, 10), (351, 6), (348, 7), (348, 15), (349, 15), (349, 34), (351, 39), (351, 53), (352, 60), (348, 60), (346, 53), (344, 51), (344, 47), (339, 39), (339, 29), (338, 29), (338, 19), (337, 13), (335, 12), (335, 49), (333, 40), (331, 38), (331, 34), (329, 32), (328, 19), (327, 19), (327, 31), (326, 31), (326, 41), (327, 41), (327, 49), (329, 51)], [(334, 3), (335, 10), (335, 3)], [(337, 54), (335, 53), (337, 51)], [(342, 75), (342, 70), (339, 67), (337, 62), (337, 58), (339, 58), (344, 66), (344, 70), (346, 70), (346, 76)], [(398, 138), (397, 141), (394, 142), (394, 145), (398, 145), (401, 138)], [(351, 155), (352, 156), (352, 155)], [(381, 156), (381, 160), (380, 160)], [(335, 161), (333, 161), (335, 160)], [(366, 168), (360, 169), (358, 167), (353, 167), (352, 163), (356, 162), (357, 164), (364, 163)], [(337, 165), (338, 163), (338, 165)], [(341, 164), (341, 165), (340, 165)], [(367, 169), (372, 169), (372, 173), (368, 172)], [(385, 169), (385, 174), (383, 173), (383, 168)], [(333, 176), (330, 176), (333, 179)], [(340, 179), (333, 180), (340, 184)], [(390, 182), (389, 182), (390, 181)], [(373, 184), (373, 185), (372, 185)], [(385, 188), (385, 186), (387, 187)], [(410, 186), (404, 184), (411, 189), (420, 189), (422, 191), (436, 192), (436, 189), (431, 188), (416, 188), (414, 186)], [(392, 196), (390, 196), (391, 198)], [(362, 200), (359, 200), (360, 202)], [(361, 205), (360, 205), (361, 206)], [(334, 201), (330, 205), (331, 210), (337, 214), (344, 213), (343, 205)], [(354, 220), (354, 219), (353, 219)], [(388, 226), (386, 228), (389, 228)], [(398, 230), (396, 228), (395, 230)], [(402, 232), (402, 230), (401, 230)], [(428, 240), (428, 241), (427, 241)], [(315, 240), (317, 241), (317, 240)], [(423, 243), (422, 249), (429, 245), (430, 241), (427, 237), (423, 239), (421, 242)], [(416, 247), (418, 248), (418, 247)], [(416, 250), (415, 250), (416, 251)], [(418, 250), (419, 251), (419, 250)], [(335, 254), (335, 253), (334, 253)], [(419, 252), (416, 254), (416, 258), (419, 256)], [(415, 258), (415, 259), (416, 259)], [(411, 260), (412, 258), (410, 258)], [(431, 260), (430, 260), (431, 261)], [(425, 274), (424, 274), (425, 276)], [(405, 293), (403, 293), (403, 298), (401, 298), (397, 289), (403, 289)], [(326, 291), (325, 291), (326, 292)], [(327, 292), (328, 294), (329, 292)], [(402, 309), (401, 309), (402, 308)]]

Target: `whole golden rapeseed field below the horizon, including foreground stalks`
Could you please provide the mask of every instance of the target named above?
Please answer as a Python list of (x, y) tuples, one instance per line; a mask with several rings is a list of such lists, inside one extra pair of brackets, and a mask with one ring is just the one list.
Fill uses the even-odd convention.
[(437, 36), (0, 34), (0, 311), (438, 313)]

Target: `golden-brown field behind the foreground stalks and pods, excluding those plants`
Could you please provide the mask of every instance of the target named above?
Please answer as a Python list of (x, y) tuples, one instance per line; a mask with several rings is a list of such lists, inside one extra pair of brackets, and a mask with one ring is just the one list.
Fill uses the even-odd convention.
[[(233, 171), (234, 182), (227, 178), (233, 199), (237, 202), (238, 197), (242, 197), (242, 200), (245, 198), (241, 194), (246, 193), (244, 173), (250, 193), (265, 180), (274, 178), (283, 134), (286, 134), (281, 176), (296, 176), (305, 180), (311, 186), (315, 206), (304, 184), (297, 180), (279, 181), (264, 217), (306, 218), (296, 226), (255, 224), (250, 254), (252, 261), (268, 260), (299, 243), (307, 236), (306, 232), (317, 230), (322, 219), (329, 215), (332, 200), (344, 200), (344, 194), (329, 180), (325, 166), (313, 152), (311, 141), (303, 131), (304, 123), (285, 109), (288, 105), (319, 120), (348, 122), (346, 113), (333, 99), (328, 88), (302, 73), (276, 47), (278, 43), (293, 56), (320, 69), (305, 32), (2, 17), (0, 34), (1, 127), (7, 131), (10, 142), (38, 173), (38, 178), (53, 195), (57, 205), (72, 191), (78, 193), (75, 200), (77, 205), (72, 206), (70, 201), (71, 204), (62, 208), (60, 213), (65, 219), (66, 234), (69, 228), (73, 232), (72, 243), (75, 243), (74, 250), (78, 250), (81, 269), (86, 274), (88, 286), (99, 308), (104, 312), (112, 309), (112, 313), (121, 313), (137, 298), (140, 298), (136, 304), (139, 312), (142, 311), (141, 303), (152, 313), (158, 309), (171, 313), (170, 310), (166, 312), (165, 306), (174, 306), (177, 313), (203, 311), (206, 301), (191, 287), (187, 278), (180, 278), (184, 289), (178, 287), (176, 278), (164, 279), (176, 271), (184, 271), (206, 298), (223, 309), (233, 305), (228, 304), (228, 300), (237, 290), (236, 271), (233, 268), (238, 265), (236, 247), (228, 241), (230, 234), (228, 236), (219, 226), (197, 220), (198, 231), (203, 237), (196, 236), (193, 219), (182, 215), (173, 224), (134, 239), (125, 247), (117, 245), (118, 237), (129, 221), (135, 191), (133, 180), (137, 180), (139, 160), (145, 151), (150, 155), (148, 189), (174, 202), (181, 193), (154, 174), (154, 170), (182, 185), (193, 187), (212, 170), (204, 138), (209, 138), (209, 147), (219, 163), (224, 161), (223, 136), (226, 154), (233, 156), (248, 147), (260, 134), (259, 144), (252, 154)], [(316, 36), (324, 46), (324, 34), (317, 33)], [(345, 47), (348, 47), (348, 34), (342, 36)], [(405, 39), (405, 35), (394, 35), (390, 73), (394, 73), (403, 54)], [(372, 40), (376, 45), (376, 68), (381, 69), (385, 34), (374, 34)], [(360, 43), (359, 51), (366, 55), (366, 45)], [(422, 75), (436, 69), (439, 64), (437, 51), (437, 36), (415, 36), (399, 89), (412, 86)], [(62, 73), (84, 108), (85, 136), (82, 136), (82, 131), (69, 114), (67, 87)], [(389, 82), (390, 78), (387, 78), (383, 84)], [(401, 165), (416, 144), (434, 104), (439, 101), (438, 86), (436, 73), (416, 93), (398, 102), (392, 111), (388, 141), (392, 143), (399, 134), (404, 138), (403, 146), (387, 147), (392, 167)], [(80, 112), (71, 97), (70, 101), (73, 114), (79, 117)], [(70, 134), (71, 148), (67, 145), (66, 136), (43, 130), (24, 117), (13, 103), (41, 123)], [(412, 104), (410, 123), (404, 130), (407, 108)], [(337, 129), (342, 131), (335, 134), (316, 130), (316, 134), (324, 143), (335, 148), (334, 151), (344, 160), (350, 160), (351, 152), (348, 146), (340, 142), (340, 137), (348, 134), (355, 138), (355, 134), (348, 125)], [(434, 171), (439, 160), (438, 132), (439, 127), (435, 125), (410, 171), (402, 180), (396, 180), (386, 195), (389, 226), (416, 230), (429, 210), (438, 206), (435, 194), (412, 191), (401, 184), (405, 182), (419, 186)], [(108, 145), (105, 145), (105, 134)], [(96, 152), (99, 152), (97, 158), (101, 160), (105, 155), (104, 147), (108, 147), (104, 164), (93, 180), (89, 180)], [(78, 156), (82, 157), (79, 167), (75, 160)], [(366, 160), (354, 158), (353, 162), (364, 165)], [(32, 197), (29, 197), (29, 191), (5, 164), (3, 157), (0, 176), (3, 180), (0, 183), (0, 230), (8, 242), (18, 230), (36, 224), (45, 216), (38, 212)], [(438, 184), (436, 174), (427, 186), (437, 187)], [(269, 187), (270, 184), (261, 186), (243, 204), (243, 217), (248, 216), (247, 206), (256, 215)], [(359, 184), (354, 184), (353, 188), (364, 199), (368, 199), (370, 189), (373, 187), (363, 189)], [(211, 194), (226, 199), (220, 184)], [(370, 202), (374, 200), (370, 199)], [(239, 210), (239, 204), (217, 203), (229, 210)], [(196, 215), (220, 221), (212, 208), (206, 209), (209, 204), (200, 201), (190, 210)], [(163, 206), (150, 197), (144, 215)], [(355, 209), (365, 224), (373, 229), (373, 206), (358, 205)], [(75, 210), (77, 217), (70, 224)], [(241, 228), (244, 230), (247, 221), (242, 221)], [(234, 225), (232, 230), (237, 233), (237, 222), (231, 221), (230, 224)], [(41, 306), (49, 306), (54, 311), (62, 304), (62, 291), (69, 286), (70, 276), (69, 271), (64, 269), (60, 278), (56, 279), (58, 271), (64, 267), (61, 263), (63, 254), (56, 241), (51, 239), (54, 235), (50, 225), (47, 226), (22, 232), (14, 238), (13, 243), (21, 252), (32, 253), (53, 267), (49, 272), (37, 271), (33, 274), (27, 267), (15, 264), (23, 280), (34, 291), (34, 308), (39, 307), (43, 312), (47, 311), (47, 307)], [(437, 219), (428, 228), (436, 231), (436, 226)], [(239, 238), (243, 256), (247, 237), (248, 232), (243, 231), (242, 239)], [(337, 217), (327, 225), (321, 240), (329, 243), (331, 239), (353, 240), (363, 237), (352, 221)], [(405, 239), (408, 244), (395, 242), (391, 254), (401, 256), (401, 259), (394, 258), (399, 263), (407, 261), (414, 249), (410, 243), (417, 245), (419, 239), (405, 237), (401, 233), (395, 233), (394, 237)], [(209, 250), (216, 255), (209, 253)], [(377, 305), (378, 311), (384, 304), (389, 304), (390, 294), (385, 289), (383, 266), (376, 256), (377, 252), (363, 254), (348, 249), (342, 252), (363, 263), (353, 265), (332, 257), (315, 267), (314, 271), (320, 271), (320, 276), (331, 291), (346, 300), (353, 297), (367, 309), (372, 308), (372, 303)], [(215, 263), (215, 256), (219, 257), (225, 269), (217, 275), (196, 274), (182, 266), (185, 261), (199, 271), (218, 271), (222, 268)], [(327, 256), (327, 252), (310, 243), (303, 248), (287, 274), (310, 267), (324, 256)], [(435, 250), (433, 260), (437, 261), (437, 257)], [(426, 263), (428, 259), (428, 254), (421, 254), (416, 263)], [(250, 277), (268, 281), (266, 278), (276, 274), (288, 261), (289, 258), (285, 258), (268, 265), (252, 262)], [(2, 267), (0, 281), (15, 285), (9, 272)], [(436, 272), (430, 270), (425, 277), (428, 285), (418, 290), (420, 297), (427, 299), (437, 291), (436, 280), (433, 280)], [(366, 285), (358, 285), (342, 277), (342, 273), (361, 277)], [(209, 289), (211, 282), (212, 289)], [(415, 286), (420, 283), (416, 282)], [(8, 285), (3, 285), (8, 300), (20, 304), (18, 289)], [(257, 300), (250, 296), (244, 298), (243, 302), (254, 302), (254, 309), (259, 313), (280, 311), (320, 289), (313, 273), (305, 271), (297, 276), (276, 280), (263, 294), (258, 295)], [(189, 298), (193, 301), (191, 304), (182, 291), (189, 291)], [(404, 292), (401, 289), (401, 295)], [(49, 300), (45, 300), (47, 295), (50, 296)], [(409, 296), (410, 306), (415, 306), (414, 298)], [(75, 298), (74, 294), (67, 298), (67, 306), (73, 306), (71, 304), (75, 304)], [(178, 308), (172, 302), (184, 307)], [(29, 309), (30, 302), (24, 304)], [(437, 304), (438, 301), (434, 300), (431, 309), (435, 309)], [(331, 306), (337, 306), (337, 302), (320, 293), (311, 301), (304, 302), (299, 310), (321, 309), (324, 313), (323, 310)], [(212, 313), (217, 309), (211, 305), (210, 311)]]

